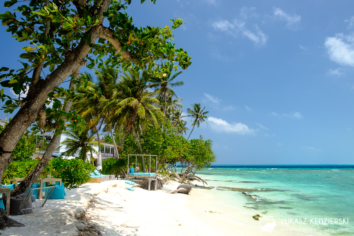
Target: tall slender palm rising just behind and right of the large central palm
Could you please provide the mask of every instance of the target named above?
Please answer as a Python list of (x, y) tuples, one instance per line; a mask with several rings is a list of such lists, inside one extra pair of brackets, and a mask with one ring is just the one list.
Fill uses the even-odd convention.
[(170, 65), (169, 67), (170, 72), (166, 76), (151, 77), (149, 79), (150, 82), (149, 88), (155, 88), (155, 92), (159, 94), (159, 97), (164, 99), (164, 115), (166, 115), (167, 94), (171, 94), (171, 97), (172, 96), (177, 97), (175, 92), (172, 90), (172, 88), (184, 85), (183, 81), (172, 82), (174, 79), (176, 79), (176, 77), (179, 74), (182, 73), (182, 71), (179, 71), (171, 76), (172, 69), (173, 69), (173, 64)]

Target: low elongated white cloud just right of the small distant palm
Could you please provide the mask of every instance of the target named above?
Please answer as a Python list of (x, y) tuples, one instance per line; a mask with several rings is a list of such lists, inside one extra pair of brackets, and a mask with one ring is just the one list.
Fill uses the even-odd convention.
[(240, 122), (228, 123), (223, 119), (212, 116), (208, 117), (207, 120), (212, 129), (215, 129), (218, 132), (237, 133), (241, 135), (254, 134), (256, 132), (255, 129), (249, 128), (247, 125)]

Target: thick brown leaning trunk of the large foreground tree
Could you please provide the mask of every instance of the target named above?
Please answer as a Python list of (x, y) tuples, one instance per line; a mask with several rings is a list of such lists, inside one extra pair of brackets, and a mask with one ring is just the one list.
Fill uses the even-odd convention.
[[(108, 37), (104, 33), (104, 27), (101, 25), (104, 20), (103, 12), (106, 12), (112, 0), (104, 0), (97, 11), (99, 24), (90, 28), (84, 34), (85, 39), (90, 39), (91, 43), (95, 43), (99, 37)], [(106, 30), (107, 31), (107, 30)], [(113, 41), (112, 34), (109, 40)], [(40, 110), (48, 99), (47, 94), (69, 77), (74, 71), (85, 65), (85, 58), (91, 47), (87, 42), (81, 40), (76, 48), (65, 56), (64, 62), (59, 65), (51, 74), (47, 75), (45, 80), (39, 80), (34, 84), (30, 84), (27, 97), (23, 99), (21, 108), (13, 119), (8, 123), (4, 131), (0, 134), (0, 181), (4, 175), (5, 169), (12, 161), (12, 151), (18, 140), (22, 137), (25, 130), (36, 121)], [(126, 57), (124, 52), (121, 53)], [(127, 57), (130, 61), (131, 58)]]

